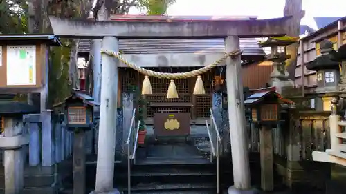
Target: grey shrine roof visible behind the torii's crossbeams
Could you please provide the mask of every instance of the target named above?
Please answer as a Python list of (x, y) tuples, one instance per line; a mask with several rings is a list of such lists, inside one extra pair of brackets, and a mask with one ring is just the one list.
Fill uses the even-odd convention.
[[(257, 16), (148, 16), (118, 15), (110, 17), (112, 21), (233, 21), (253, 20)], [(81, 39), (78, 52), (89, 52), (90, 39)], [(265, 55), (255, 38), (240, 39), (242, 55)], [(119, 39), (119, 50), (125, 54), (161, 53), (219, 53), (226, 52), (224, 39)]]

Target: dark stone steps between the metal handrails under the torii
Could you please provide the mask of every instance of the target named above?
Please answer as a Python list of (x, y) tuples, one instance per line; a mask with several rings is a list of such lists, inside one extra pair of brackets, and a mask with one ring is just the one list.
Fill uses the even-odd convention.
[[(193, 142), (193, 141), (191, 141)], [(117, 187), (127, 194), (127, 179)], [(131, 193), (216, 193), (215, 164), (186, 142), (156, 142), (138, 149), (131, 169)]]

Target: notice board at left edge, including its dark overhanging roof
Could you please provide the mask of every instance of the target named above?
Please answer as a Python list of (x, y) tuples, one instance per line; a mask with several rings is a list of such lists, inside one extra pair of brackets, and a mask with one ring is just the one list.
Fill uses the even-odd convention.
[[(8, 69), (8, 47), (11, 46), (28, 46), (29, 48), (14, 50), (15, 52), (12, 52), (11, 55), (18, 58), (11, 60), (12, 62), (15, 61), (15, 66)], [(30, 48), (32, 46), (35, 46), (35, 55), (33, 55), (33, 50)], [(62, 46), (62, 42), (55, 35), (0, 35), (0, 93), (42, 93), (43, 87), (47, 86), (48, 81), (48, 49), (51, 46)], [(33, 59), (35, 62), (28, 59)], [(22, 69), (21, 63), (26, 65), (22, 66)], [(8, 80), (8, 70), (16, 72), (17, 69), (19, 71), (18, 75), (22, 75), (21, 79)], [(23, 74), (23, 70), (26, 70), (28, 74)], [(16, 73), (14, 74), (16, 75)], [(8, 83), (8, 81), (12, 81), (12, 83)], [(32, 83), (20, 85), (24, 83), (22, 81)]]

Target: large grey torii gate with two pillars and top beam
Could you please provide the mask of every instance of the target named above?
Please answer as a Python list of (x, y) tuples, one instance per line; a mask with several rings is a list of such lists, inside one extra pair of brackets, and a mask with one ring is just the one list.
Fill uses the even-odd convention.
[[(291, 17), (265, 20), (178, 21), (155, 19), (144, 21), (77, 21), (49, 17), (58, 37), (103, 39), (102, 49), (118, 52), (118, 39), (210, 39), (224, 38), (226, 52), (239, 49), (239, 38), (275, 37), (286, 34)], [(194, 54), (192, 54), (194, 55)], [(191, 56), (194, 57), (194, 56)], [(140, 65), (140, 64), (138, 64)], [(118, 193), (113, 188), (114, 153), (116, 142), (116, 106), (118, 67), (120, 61), (102, 55), (102, 86), (98, 162), (95, 191)], [(228, 193), (253, 193), (251, 190), (246, 142), (243, 86), (240, 56), (226, 59), (228, 115), (233, 161), (234, 186)]]

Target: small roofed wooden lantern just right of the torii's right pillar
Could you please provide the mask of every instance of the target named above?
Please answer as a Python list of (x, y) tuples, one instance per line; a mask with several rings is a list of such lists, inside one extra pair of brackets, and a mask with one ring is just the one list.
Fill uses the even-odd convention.
[(251, 122), (277, 124), (280, 121), (280, 98), (274, 91), (258, 92), (248, 97), (244, 104), (251, 109)]

